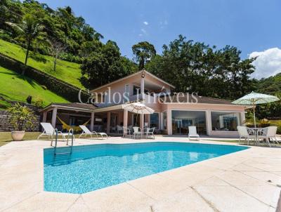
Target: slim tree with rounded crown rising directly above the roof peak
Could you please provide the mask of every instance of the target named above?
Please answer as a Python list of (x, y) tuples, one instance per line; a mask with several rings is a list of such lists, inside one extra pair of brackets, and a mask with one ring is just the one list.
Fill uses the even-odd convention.
[(136, 56), (138, 62), (138, 69), (141, 70), (145, 67), (145, 63), (149, 58), (156, 55), (155, 47), (148, 43), (148, 41), (139, 42), (132, 46), (133, 54)]

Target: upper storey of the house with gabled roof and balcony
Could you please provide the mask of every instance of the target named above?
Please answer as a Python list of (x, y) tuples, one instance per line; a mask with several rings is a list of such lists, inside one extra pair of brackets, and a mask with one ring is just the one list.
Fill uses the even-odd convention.
[(96, 103), (118, 104), (143, 100), (153, 102), (155, 96), (171, 93), (175, 87), (154, 74), (141, 70), (91, 91)]

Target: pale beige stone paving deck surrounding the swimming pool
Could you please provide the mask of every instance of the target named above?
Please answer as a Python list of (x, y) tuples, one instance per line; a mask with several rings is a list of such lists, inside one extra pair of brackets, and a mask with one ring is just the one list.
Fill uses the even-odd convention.
[[(74, 145), (153, 141), (188, 139), (77, 139)], [(251, 147), (86, 194), (64, 194), (44, 192), (46, 147), (50, 142), (42, 140), (0, 147), (0, 211), (279, 211), (281, 148)]]

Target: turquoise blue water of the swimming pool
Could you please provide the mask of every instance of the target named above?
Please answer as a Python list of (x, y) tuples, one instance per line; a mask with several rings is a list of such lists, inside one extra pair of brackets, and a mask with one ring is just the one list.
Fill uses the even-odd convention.
[[(136, 143), (75, 146), (72, 154), (44, 150), (44, 190), (82, 194), (178, 168), (247, 147), (199, 143)], [(69, 147), (59, 147), (67, 152)]]

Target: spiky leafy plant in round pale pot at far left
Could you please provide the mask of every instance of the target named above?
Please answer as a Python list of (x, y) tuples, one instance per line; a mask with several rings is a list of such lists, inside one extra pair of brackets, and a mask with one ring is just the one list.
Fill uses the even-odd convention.
[(14, 128), (11, 132), (13, 140), (22, 140), (25, 136), (25, 130), (32, 127), (37, 120), (34, 112), (26, 106), (16, 103), (8, 109), (8, 113), (10, 114), (10, 123)]

